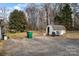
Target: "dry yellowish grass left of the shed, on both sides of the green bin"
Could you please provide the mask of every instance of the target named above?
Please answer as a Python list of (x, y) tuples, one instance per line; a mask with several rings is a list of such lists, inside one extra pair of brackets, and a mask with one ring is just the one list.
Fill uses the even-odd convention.
[[(39, 31), (32, 31), (32, 32), (33, 32), (33, 37), (43, 35), (43, 32), (39, 32)], [(27, 37), (27, 32), (7, 33), (7, 36), (10, 39), (25, 38)]]

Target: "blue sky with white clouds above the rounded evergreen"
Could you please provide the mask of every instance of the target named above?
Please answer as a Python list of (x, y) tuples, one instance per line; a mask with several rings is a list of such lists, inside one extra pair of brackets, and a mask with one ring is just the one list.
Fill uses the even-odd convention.
[(14, 9), (24, 11), (26, 7), (27, 3), (0, 3), (0, 17), (3, 16), (2, 8), (6, 9), (6, 15), (8, 17)]

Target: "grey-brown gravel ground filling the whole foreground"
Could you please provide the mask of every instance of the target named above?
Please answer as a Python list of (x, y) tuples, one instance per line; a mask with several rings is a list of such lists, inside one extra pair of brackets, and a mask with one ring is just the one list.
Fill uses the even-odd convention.
[[(74, 35), (75, 34), (75, 35)], [(32, 39), (11, 38), (0, 42), (0, 55), (9, 56), (79, 56), (78, 32), (63, 36), (36, 35)], [(70, 36), (69, 36), (70, 35)], [(77, 36), (76, 36), (77, 35)], [(76, 37), (73, 37), (76, 36)]]

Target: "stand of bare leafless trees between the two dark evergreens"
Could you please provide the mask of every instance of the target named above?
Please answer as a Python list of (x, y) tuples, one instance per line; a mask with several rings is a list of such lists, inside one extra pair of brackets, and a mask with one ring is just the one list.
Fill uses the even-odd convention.
[(28, 15), (28, 23), (32, 29), (45, 30), (48, 24), (53, 24), (58, 5), (50, 3), (28, 4), (26, 13)]

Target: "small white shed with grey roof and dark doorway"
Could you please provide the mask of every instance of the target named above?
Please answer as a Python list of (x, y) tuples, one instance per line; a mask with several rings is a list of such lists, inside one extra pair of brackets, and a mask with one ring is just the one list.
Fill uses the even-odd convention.
[(48, 25), (46, 27), (47, 35), (63, 35), (66, 33), (66, 29), (62, 25)]

